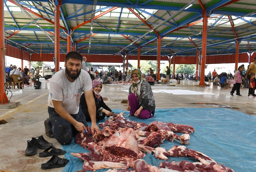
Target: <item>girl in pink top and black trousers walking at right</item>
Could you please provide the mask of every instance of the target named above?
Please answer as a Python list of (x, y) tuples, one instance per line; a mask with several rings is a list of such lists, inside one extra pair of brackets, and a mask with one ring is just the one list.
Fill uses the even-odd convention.
[(234, 87), (232, 88), (231, 92), (230, 92), (230, 95), (231, 96), (234, 96), (233, 93), (235, 92), (236, 90), (236, 95), (237, 96), (242, 96), (240, 94), (240, 86), (241, 86), (241, 83), (242, 83), (242, 79), (244, 79), (242, 77), (242, 72), (244, 70), (244, 66), (239, 66), (238, 70), (236, 71), (235, 75), (234, 75)]

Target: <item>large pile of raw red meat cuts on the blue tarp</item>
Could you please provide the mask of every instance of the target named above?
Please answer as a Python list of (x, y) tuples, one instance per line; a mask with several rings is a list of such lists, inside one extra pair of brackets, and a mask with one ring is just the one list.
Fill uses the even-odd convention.
[[(181, 144), (188, 145), (190, 134), (195, 132), (192, 126), (152, 122), (149, 125), (131, 121), (123, 117), (109, 117), (105, 123), (99, 123), (101, 134), (94, 136), (97, 143), (86, 133), (78, 133), (75, 142), (91, 153), (71, 153), (84, 161), (83, 169), (96, 171), (108, 168), (109, 172), (234, 172), (231, 168), (217, 164), (213, 159), (185, 146), (174, 145), (170, 150), (161, 148), (164, 140), (177, 139)], [(92, 134), (90, 127), (87, 127)], [(181, 136), (176, 133), (183, 133)], [(145, 153), (153, 154), (156, 159), (166, 160), (159, 167), (148, 165), (142, 158)], [(192, 157), (199, 162), (169, 162), (168, 157)], [(120, 169), (120, 170), (118, 170)]]

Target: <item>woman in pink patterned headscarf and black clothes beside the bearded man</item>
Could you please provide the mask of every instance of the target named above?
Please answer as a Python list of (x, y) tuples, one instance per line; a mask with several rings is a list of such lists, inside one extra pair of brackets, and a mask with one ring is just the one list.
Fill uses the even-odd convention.
[[(98, 79), (93, 80), (92, 92), (93, 92), (93, 97), (95, 99), (95, 104), (96, 104), (96, 121), (97, 122), (99, 120), (104, 119), (105, 116), (110, 117), (112, 116), (112, 114), (114, 114), (114, 112), (104, 103), (100, 95), (101, 90), (102, 90), (101, 82), (99, 82)], [(81, 105), (83, 114), (86, 117), (86, 121), (87, 122), (91, 121), (84, 94), (82, 94), (80, 98), (80, 105)]]

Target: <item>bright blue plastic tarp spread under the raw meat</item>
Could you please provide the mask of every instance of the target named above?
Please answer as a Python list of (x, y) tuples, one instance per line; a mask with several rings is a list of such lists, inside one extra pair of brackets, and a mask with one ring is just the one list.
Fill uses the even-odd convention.
[[(114, 109), (115, 113), (121, 112)], [(126, 119), (151, 123), (152, 121), (172, 122), (187, 124), (195, 128), (195, 133), (190, 135), (190, 145), (185, 145), (189, 150), (193, 149), (204, 153), (214, 159), (218, 164), (232, 168), (235, 172), (256, 171), (256, 116), (248, 115), (239, 111), (225, 108), (173, 108), (156, 109), (155, 118), (141, 120), (137, 117), (128, 117), (129, 112), (125, 111)], [(101, 120), (100, 122), (105, 122)], [(90, 126), (91, 123), (88, 123)], [(181, 135), (181, 134), (179, 134)], [(180, 141), (164, 141), (161, 147), (169, 150), (173, 145), (181, 145)], [(74, 139), (70, 145), (62, 146), (66, 150), (65, 158), (70, 162), (63, 169), (63, 172), (75, 172), (82, 170), (83, 162), (73, 157), (70, 153), (89, 152), (80, 144), (75, 144)], [(148, 164), (159, 166), (161, 161), (155, 159), (151, 154), (146, 153), (143, 158)], [(180, 162), (187, 160), (195, 162), (189, 157), (169, 157), (169, 161)], [(107, 171), (105, 169), (98, 172)]]

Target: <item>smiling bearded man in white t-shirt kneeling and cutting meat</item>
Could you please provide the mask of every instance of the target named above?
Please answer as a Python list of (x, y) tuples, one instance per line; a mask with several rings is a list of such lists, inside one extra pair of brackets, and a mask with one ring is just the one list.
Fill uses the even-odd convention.
[(92, 82), (89, 74), (81, 68), (82, 60), (83, 57), (78, 52), (67, 53), (65, 70), (55, 73), (51, 78), (48, 97), (49, 118), (44, 122), (45, 134), (54, 137), (62, 145), (70, 144), (76, 134), (85, 133), (84, 130), (88, 127), (79, 105), (82, 91), (92, 120), (92, 135), (100, 134), (96, 123)]

